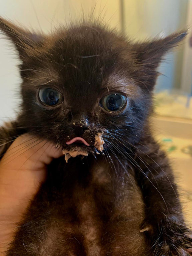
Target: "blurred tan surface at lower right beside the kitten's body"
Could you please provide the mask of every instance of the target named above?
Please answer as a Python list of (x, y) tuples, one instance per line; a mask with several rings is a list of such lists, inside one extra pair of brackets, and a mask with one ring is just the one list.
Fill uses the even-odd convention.
[(168, 152), (185, 218), (192, 226), (192, 120), (157, 116), (152, 122), (156, 139)]

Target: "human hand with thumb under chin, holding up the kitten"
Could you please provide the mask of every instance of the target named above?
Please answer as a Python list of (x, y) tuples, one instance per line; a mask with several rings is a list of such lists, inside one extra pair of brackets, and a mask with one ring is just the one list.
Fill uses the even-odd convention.
[(0, 161), (0, 255), (13, 240), (30, 200), (46, 178), (46, 166), (62, 151), (47, 140), (19, 136)]

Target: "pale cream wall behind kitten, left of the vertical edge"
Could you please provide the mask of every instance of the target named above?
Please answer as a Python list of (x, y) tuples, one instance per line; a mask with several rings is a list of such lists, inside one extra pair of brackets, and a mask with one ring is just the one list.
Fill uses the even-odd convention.
[[(89, 15), (108, 22), (109, 26), (120, 29), (118, 0), (0, 0), (0, 16), (17, 21), (35, 30), (50, 32), (57, 24), (78, 20)], [(21, 82), (18, 73), (18, 56), (11, 43), (0, 36), (0, 122), (14, 117), (18, 102), (18, 89)]]

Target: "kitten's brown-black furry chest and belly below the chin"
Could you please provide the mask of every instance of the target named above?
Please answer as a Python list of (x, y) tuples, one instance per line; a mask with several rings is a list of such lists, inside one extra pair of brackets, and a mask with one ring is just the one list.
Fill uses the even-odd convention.
[(146, 251), (139, 228), (143, 201), (131, 173), (122, 177), (118, 166), (112, 170), (102, 161), (69, 163), (58, 170), (48, 177), (30, 212), (36, 215), (33, 220), (42, 216), (38, 227), (33, 223), (29, 227), (38, 240), (38, 255), (140, 255)]

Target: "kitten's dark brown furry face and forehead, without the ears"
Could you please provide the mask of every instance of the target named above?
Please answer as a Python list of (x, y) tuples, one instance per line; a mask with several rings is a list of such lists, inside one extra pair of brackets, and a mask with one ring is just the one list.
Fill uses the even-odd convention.
[[(23, 125), (42, 126), (32, 130), (63, 149), (95, 151), (98, 133), (104, 148), (121, 134), (133, 143), (148, 112), (149, 100), (131, 76), (134, 57), (130, 52), (130, 60), (124, 59), (115, 46), (118, 38), (109, 41), (101, 33), (84, 27), (61, 34), (47, 52), (22, 66)], [(76, 137), (86, 145), (83, 140), (67, 145)]]

